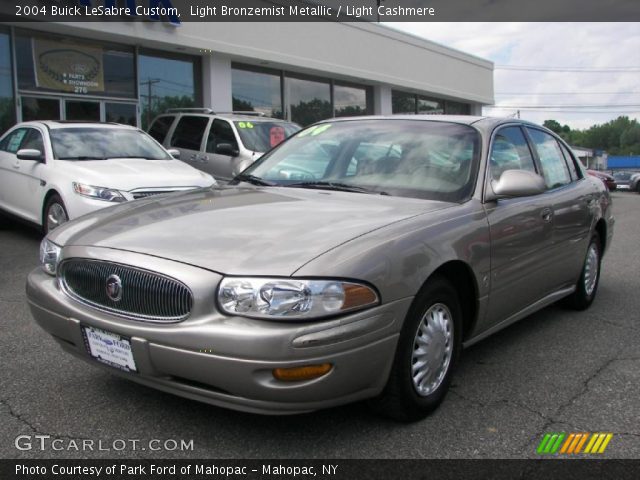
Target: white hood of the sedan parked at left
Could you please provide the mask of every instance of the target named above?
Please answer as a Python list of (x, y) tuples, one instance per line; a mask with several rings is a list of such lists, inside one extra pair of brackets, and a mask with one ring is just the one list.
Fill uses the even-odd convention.
[(121, 158), (107, 160), (56, 160), (64, 163), (73, 181), (130, 191), (153, 187), (206, 187), (214, 180), (180, 160)]

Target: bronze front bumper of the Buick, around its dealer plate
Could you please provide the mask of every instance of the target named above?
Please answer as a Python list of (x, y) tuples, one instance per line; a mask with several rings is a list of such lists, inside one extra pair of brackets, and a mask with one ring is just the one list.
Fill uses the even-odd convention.
[[(118, 255), (122, 257), (122, 252)], [(197, 274), (203, 285), (217, 285), (220, 279), (196, 267), (162, 259), (153, 262), (173, 264), (174, 269), (179, 266), (187, 277)], [(198, 286), (194, 293), (197, 297)], [(269, 414), (301, 413), (378, 395), (387, 381), (412, 300), (313, 323), (229, 317), (215, 308), (204, 313), (206, 308), (200, 304), (187, 320), (158, 325), (80, 304), (59, 289), (57, 279), (40, 269), (27, 279), (27, 296), (36, 322), (64, 350), (94, 365), (183, 397)], [(138, 373), (95, 361), (86, 350), (82, 325), (130, 337)], [(320, 363), (333, 368), (313, 380), (283, 382), (272, 375), (274, 368)]]

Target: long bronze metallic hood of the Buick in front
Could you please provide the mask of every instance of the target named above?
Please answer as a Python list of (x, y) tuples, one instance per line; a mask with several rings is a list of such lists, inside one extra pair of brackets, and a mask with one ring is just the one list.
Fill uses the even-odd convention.
[(297, 188), (200, 189), (86, 215), (50, 235), (231, 275), (293, 274), (349, 240), (450, 203)]

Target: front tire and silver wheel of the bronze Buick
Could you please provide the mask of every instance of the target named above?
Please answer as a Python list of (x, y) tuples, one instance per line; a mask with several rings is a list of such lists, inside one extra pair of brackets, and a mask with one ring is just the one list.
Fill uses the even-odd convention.
[(402, 422), (424, 418), (442, 402), (460, 353), (462, 309), (442, 277), (428, 281), (402, 327), (389, 380), (373, 409)]

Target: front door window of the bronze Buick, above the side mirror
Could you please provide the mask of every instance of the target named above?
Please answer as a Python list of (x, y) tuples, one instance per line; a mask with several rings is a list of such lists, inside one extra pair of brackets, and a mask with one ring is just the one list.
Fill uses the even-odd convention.
[(494, 180), (498, 180), (505, 170), (528, 170), (535, 173), (533, 157), (520, 127), (505, 127), (496, 133), (489, 164)]

